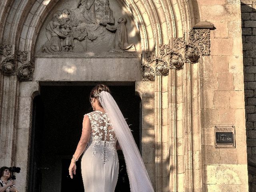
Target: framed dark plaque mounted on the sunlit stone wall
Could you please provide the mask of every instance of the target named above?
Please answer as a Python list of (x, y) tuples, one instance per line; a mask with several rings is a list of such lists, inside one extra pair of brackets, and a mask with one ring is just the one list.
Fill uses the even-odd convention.
[(235, 148), (235, 126), (215, 126), (215, 147)]

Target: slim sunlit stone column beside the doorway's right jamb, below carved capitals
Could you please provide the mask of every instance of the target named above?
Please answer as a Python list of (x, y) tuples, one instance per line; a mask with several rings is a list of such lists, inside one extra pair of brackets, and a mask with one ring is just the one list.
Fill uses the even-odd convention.
[(155, 80), (156, 191), (169, 192), (169, 108), (168, 76)]

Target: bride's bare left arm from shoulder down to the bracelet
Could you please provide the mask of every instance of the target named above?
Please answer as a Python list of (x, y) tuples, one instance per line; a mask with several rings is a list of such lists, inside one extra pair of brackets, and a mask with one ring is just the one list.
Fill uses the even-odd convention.
[(76, 152), (74, 153), (74, 158), (76, 160), (78, 160), (78, 158), (84, 152), (84, 149), (86, 148), (88, 140), (90, 138), (90, 133), (91, 133), (90, 119), (87, 115), (85, 115), (83, 120), (82, 135), (76, 147)]

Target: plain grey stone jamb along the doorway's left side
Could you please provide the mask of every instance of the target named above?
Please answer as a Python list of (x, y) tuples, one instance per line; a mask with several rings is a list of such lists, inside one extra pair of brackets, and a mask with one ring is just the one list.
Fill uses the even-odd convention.
[(29, 185), (33, 99), (38, 93), (38, 82), (20, 82), (16, 127), (16, 152), (14, 156), (14, 165), (22, 168), (18, 175), (19, 179), (16, 180), (19, 191), (27, 191)]

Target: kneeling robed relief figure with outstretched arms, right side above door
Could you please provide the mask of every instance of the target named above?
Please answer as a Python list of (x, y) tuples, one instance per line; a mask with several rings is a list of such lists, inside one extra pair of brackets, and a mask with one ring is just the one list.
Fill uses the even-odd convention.
[(134, 44), (128, 44), (127, 42), (127, 28), (126, 28), (126, 18), (120, 17), (118, 19), (118, 25), (111, 26), (109, 24), (102, 24), (106, 26), (106, 29), (115, 32), (112, 49), (110, 51), (114, 52), (136, 52)]

